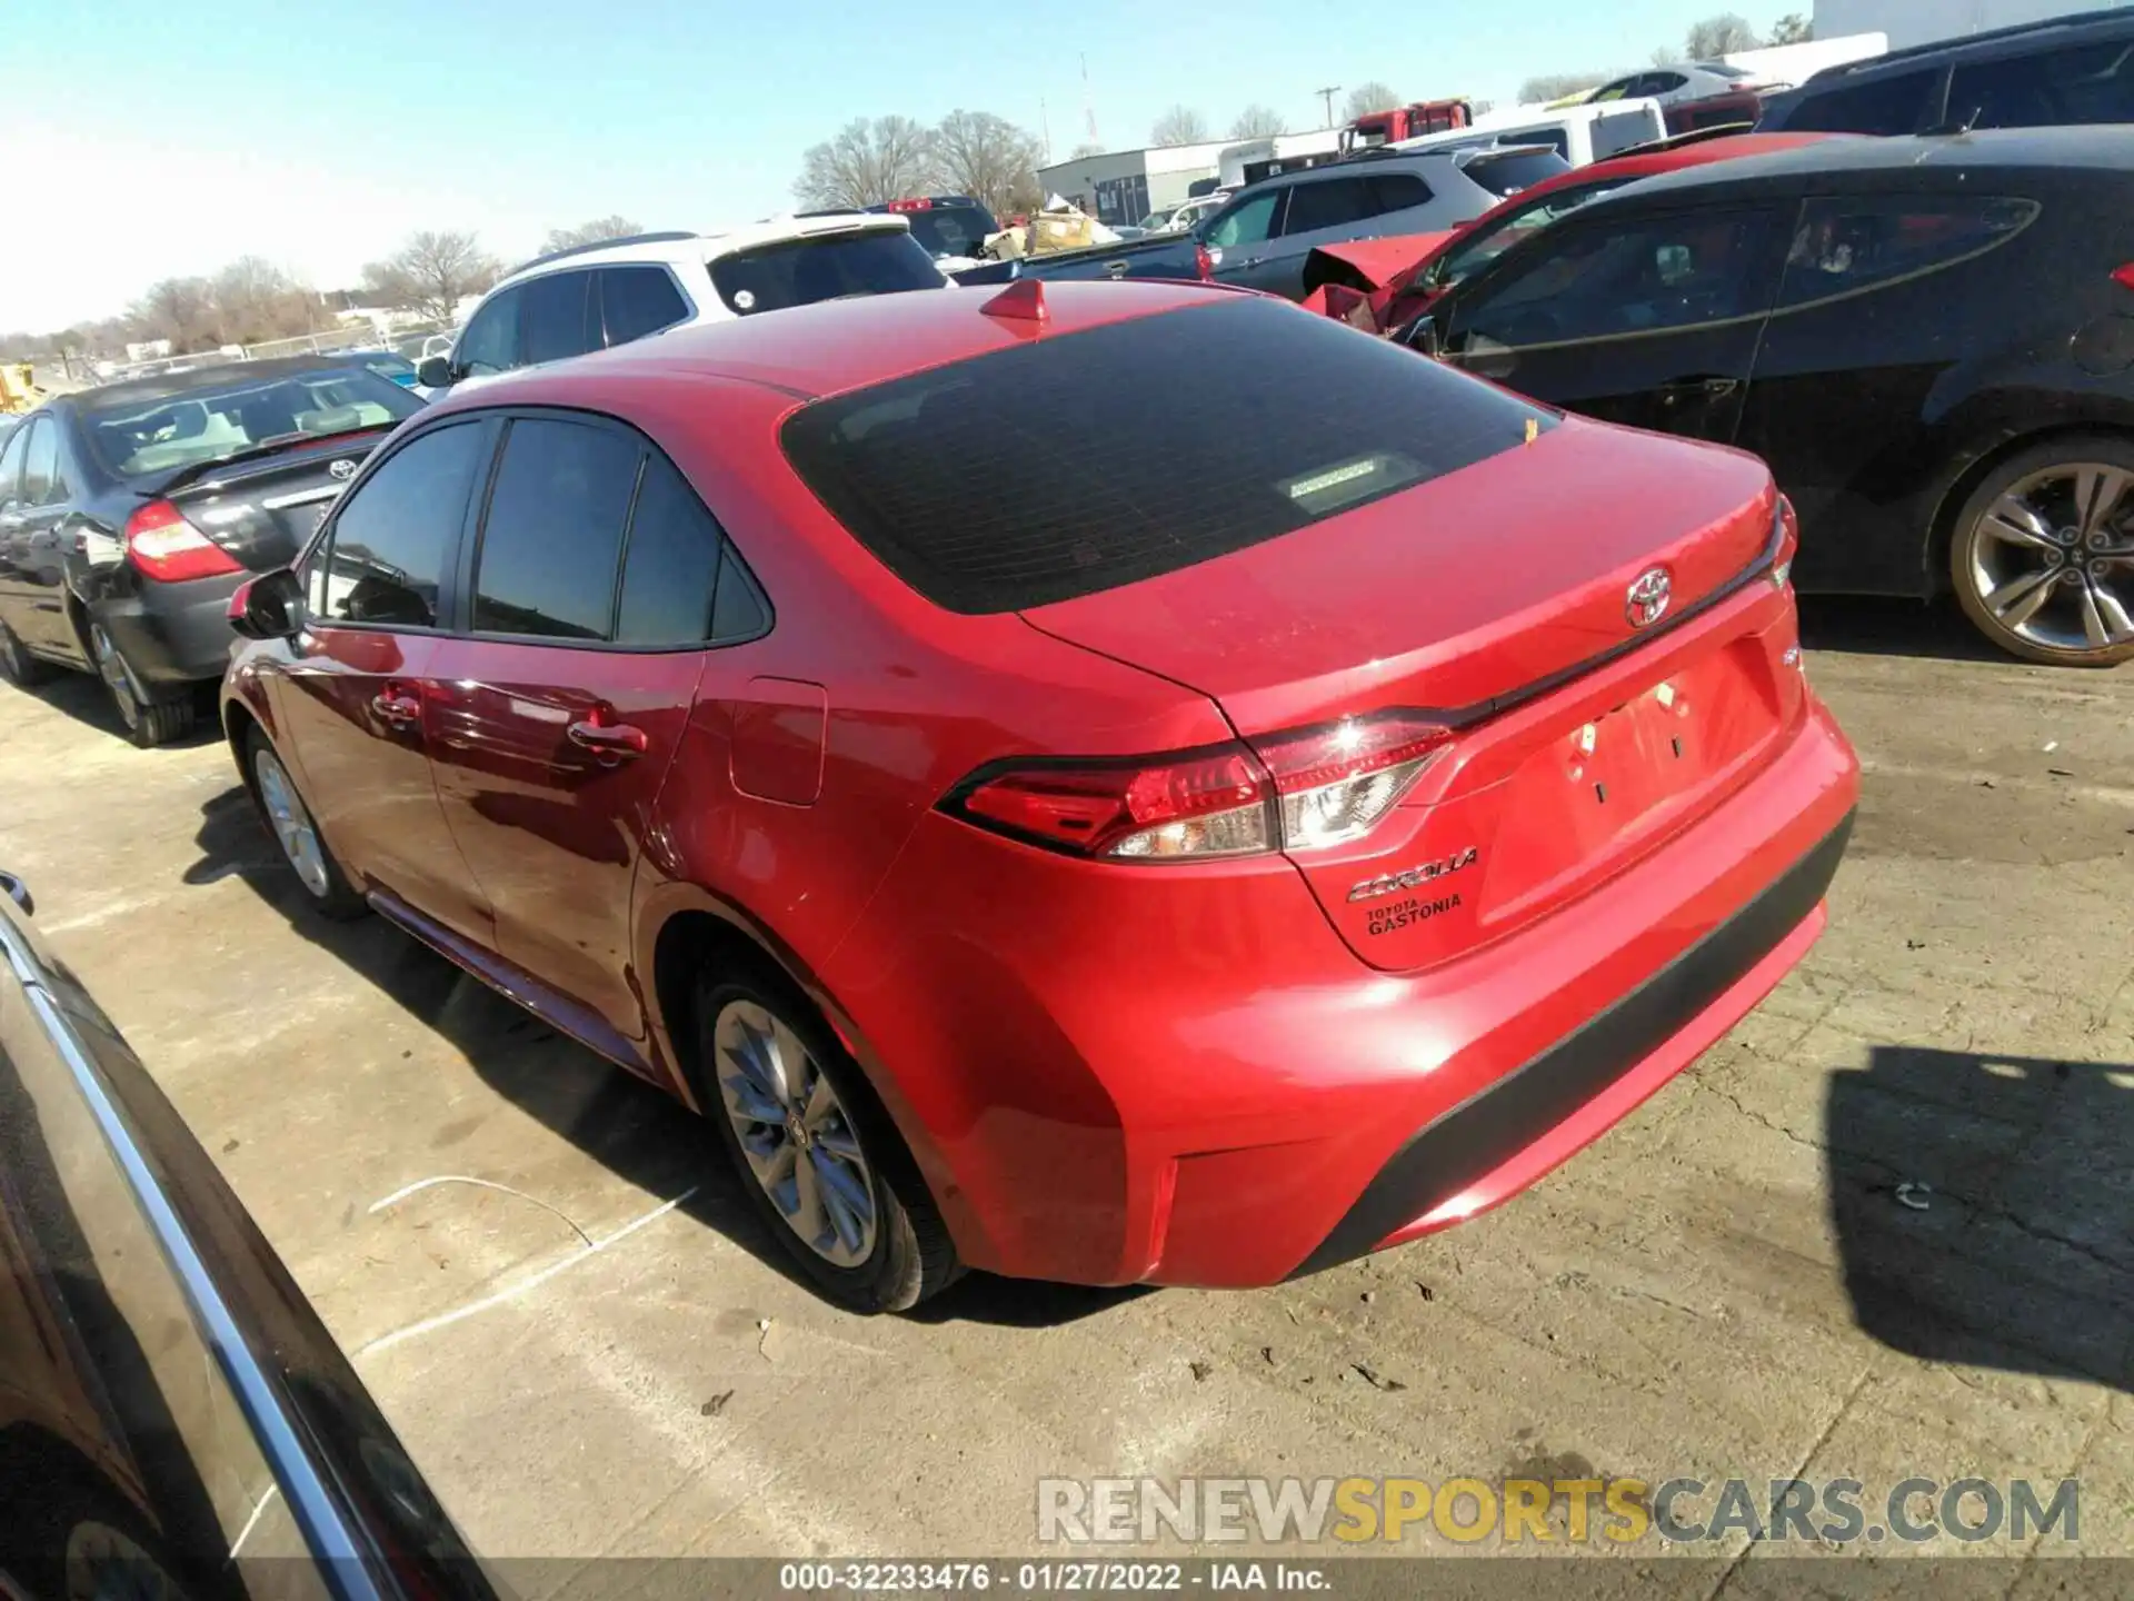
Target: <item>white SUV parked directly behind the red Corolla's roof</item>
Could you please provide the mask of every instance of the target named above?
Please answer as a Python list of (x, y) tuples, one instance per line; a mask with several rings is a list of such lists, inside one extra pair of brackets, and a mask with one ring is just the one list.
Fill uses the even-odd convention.
[(826, 211), (728, 233), (640, 233), (557, 250), (482, 297), (425, 389), (580, 356), (649, 333), (847, 295), (947, 288), (901, 216)]

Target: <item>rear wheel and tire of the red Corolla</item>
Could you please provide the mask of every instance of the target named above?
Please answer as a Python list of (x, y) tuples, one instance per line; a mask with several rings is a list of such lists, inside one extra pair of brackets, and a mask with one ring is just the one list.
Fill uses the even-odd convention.
[(824, 1300), (901, 1313), (960, 1277), (896, 1125), (802, 995), (760, 973), (706, 978), (694, 1020), (704, 1116), (764, 1227)]

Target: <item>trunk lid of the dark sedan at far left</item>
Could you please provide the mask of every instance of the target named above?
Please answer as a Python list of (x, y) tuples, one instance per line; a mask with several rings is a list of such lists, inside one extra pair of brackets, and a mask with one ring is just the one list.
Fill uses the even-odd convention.
[(388, 427), (292, 442), (262, 455), (209, 461), (164, 478), (152, 500), (169, 500), (186, 521), (252, 572), (297, 559), (320, 519)]

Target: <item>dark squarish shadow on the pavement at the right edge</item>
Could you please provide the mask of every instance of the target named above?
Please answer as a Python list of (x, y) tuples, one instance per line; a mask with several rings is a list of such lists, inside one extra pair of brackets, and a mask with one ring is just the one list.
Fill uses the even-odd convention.
[(1827, 1144), (1867, 1334), (2134, 1390), (2134, 1065), (1878, 1046), (1831, 1078)]

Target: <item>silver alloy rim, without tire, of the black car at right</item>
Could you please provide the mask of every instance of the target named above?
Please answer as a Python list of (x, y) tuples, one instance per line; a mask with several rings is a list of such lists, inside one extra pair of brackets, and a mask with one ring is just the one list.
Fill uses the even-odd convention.
[(2025, 645), (2089, 655), (2134, 645), (2134, 472), (2042, 467), (1972, 529), (1968, 576), (1987, 615)]

